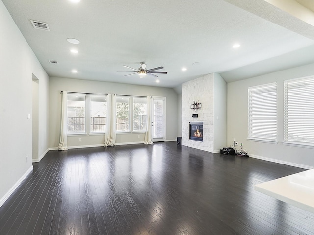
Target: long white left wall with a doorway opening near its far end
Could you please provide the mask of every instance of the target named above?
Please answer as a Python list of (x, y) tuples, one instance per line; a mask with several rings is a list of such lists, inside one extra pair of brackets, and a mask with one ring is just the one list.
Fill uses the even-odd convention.
[(33, 74), (39, 79), (39, 155), (48, 149), (48, 75), (2, 1), (0, 51), (1, 205), (32, 170), (32, 119), (27, 114), (32, 114)]

